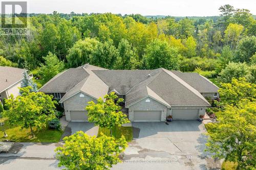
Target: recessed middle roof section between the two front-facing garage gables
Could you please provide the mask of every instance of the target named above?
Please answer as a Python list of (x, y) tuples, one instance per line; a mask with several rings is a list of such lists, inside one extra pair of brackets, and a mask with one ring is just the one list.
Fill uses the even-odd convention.
[(109, 91), (125, 94), (152, 70), (92, 70), (106, 85)]

